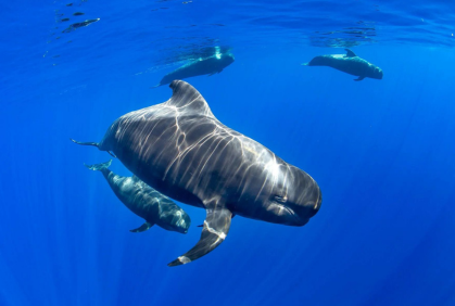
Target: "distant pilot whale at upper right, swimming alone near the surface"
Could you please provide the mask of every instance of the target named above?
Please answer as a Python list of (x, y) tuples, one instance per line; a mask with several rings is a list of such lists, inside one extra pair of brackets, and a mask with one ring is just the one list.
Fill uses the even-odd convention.
[(358, 76), (354, 80), (363, 80), (366, 77), (382, 79), (383, 73), (381, 68), (358, 58), (350, 49), (345, 49), (346, 54), (329, 54), (319, 55), (311, 60), (305, 66), (328, 66), (341, 71), (343, 73)]

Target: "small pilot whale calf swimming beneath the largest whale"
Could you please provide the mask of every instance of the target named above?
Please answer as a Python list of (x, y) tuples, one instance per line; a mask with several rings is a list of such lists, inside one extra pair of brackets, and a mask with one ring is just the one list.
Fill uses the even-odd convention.
[(129, 211), (146, 219), (142, 226), (131, 232), (142, 232), (157, 225), (165, 230), (187, 233), (191, 219), (184, 209), (136, 176), (122, 177), (114, 174), (109, 169), (111, 162), (86, 167), (101, 171), (118, 200)]

